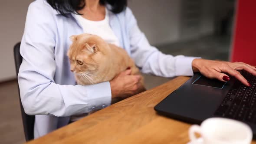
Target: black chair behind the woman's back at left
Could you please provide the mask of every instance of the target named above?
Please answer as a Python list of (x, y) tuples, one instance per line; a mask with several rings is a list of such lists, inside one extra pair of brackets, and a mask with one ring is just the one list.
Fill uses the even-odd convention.
[[(15, 67), (16, 67), (16, 74), (18, 76), (18, 72), (19, 72), (19, 69), (20, 69), (21, 62), (22, 62), (22, 56), (20, 56), (20, 43), (17, 43), (14, 46), (13, 54), (14, 54), (14, 61), (15, 61)], [(18, 85), (18, 90), (19, 90), (19, 100), (20, 100), (19, 85)], [(35, 116), (34, 115), (27, 115), (25, 113), (23, 105), (21, 104), (21, 100), (20, 100), (20, 110), (21, 110), (21, 116), (22, 116), (23, 128), (24, 128), (26, 141), (33, 140), (34, 139)]]

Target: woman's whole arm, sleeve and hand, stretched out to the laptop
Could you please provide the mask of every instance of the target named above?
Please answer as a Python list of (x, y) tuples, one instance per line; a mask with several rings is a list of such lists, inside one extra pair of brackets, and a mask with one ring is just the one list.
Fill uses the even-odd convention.
[(237, 70), (244, 69), (256, 76), (256, 68), (243, 62), (221, 62), (196, 59), (195, 57), (165, 55), (155, 47), (150, 46), (148, 40), (138, 28), (135, 16), (129, 8), (127, 8), (125, 14), (131, 42), (131, 57), (144, 73), (172, 77), (193, 75), (194, 71), (220, 81), (228, 81), (230, 78), (226, 74), (229, 74), (247, 86), (250, 86), (249, 82)]

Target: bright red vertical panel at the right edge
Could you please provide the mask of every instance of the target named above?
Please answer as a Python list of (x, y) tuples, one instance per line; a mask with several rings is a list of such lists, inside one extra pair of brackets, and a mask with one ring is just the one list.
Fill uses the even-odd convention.
[(237, 0), (232, 62), (256, 66), (256, 0)]

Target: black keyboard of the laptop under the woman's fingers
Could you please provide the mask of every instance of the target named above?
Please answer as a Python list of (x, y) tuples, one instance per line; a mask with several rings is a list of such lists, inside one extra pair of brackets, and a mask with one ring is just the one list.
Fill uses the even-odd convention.
[(256, 77), (244, 70), (241, 74), (252, 87), (236, 80), (214, 115), (256, 124)]

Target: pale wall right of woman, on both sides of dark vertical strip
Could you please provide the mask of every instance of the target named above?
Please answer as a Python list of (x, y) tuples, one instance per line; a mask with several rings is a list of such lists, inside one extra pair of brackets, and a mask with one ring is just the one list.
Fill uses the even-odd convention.
[[(200, 3), (200, 22), (196, 32), (186, 31), (181, 36), (182, 0), (128, 0), (138, 20), (138, 25), (151, 45), (161, 45), (177, 41), (196, 39), (214, 32), (214, 0)], [(186, 30), (186, 29), (185, 29)]]

